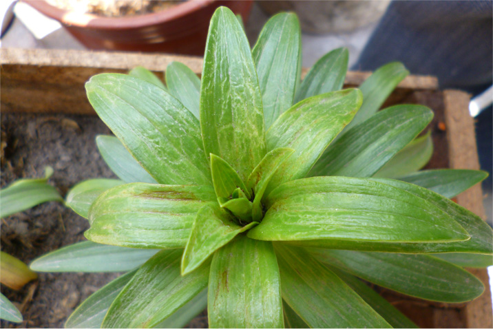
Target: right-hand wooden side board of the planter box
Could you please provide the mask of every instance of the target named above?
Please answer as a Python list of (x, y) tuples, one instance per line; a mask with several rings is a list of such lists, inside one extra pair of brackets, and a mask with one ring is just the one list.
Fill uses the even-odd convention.
[[(469, 94), (459, 90), (445, 90), (445, 125), (449, 142), (450, 168), (479, 169), (474, 122), (468, 112)], [(481, 184), (457, 195), (457, 203), (485, 219)], [(471, 268), (470, 272), (479, 277), (485, 285), (481, 297), (468, 303), (463, 312), (468, 328), (493, 328), (492, 296), (486, 269)]]

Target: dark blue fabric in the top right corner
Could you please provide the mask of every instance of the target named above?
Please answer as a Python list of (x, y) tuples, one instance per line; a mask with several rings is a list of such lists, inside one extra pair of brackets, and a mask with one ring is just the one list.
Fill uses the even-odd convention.
[(443, 88), (492, 85), (492, 1), (392, 1), (353, 70), (401, 61)]

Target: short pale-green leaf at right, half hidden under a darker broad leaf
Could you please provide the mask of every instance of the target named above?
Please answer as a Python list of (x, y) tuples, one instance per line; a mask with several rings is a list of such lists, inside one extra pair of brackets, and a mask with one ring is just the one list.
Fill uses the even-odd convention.
[(414, 173), (426, 166), (433, 154), (431, 130), (412, 140), (394, 158), (381, 167), (373, 177), (397, 178)]

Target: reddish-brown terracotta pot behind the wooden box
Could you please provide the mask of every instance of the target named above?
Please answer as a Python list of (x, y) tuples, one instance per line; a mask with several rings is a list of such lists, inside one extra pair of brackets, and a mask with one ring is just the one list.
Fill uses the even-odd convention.
[(204, 54), (209, 21), (219, 6), (248, 19), (253, 1), (191, 0), (167, 10), (132, 17), (101, 17), (67, 11), (46, 1), (22, 0), (59, 21), (78, 41), (93, 50), (127, 50)]

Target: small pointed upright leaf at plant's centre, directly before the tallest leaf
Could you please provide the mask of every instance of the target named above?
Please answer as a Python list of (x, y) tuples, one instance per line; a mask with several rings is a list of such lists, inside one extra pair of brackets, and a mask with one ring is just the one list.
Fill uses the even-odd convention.
[(242, 189), (246, 198), (250, 198), (250, 191), (246, 189), (244, 182), (235, 169), (228, 162), (212, 153), (211, 174), (212, 184), (218, 198), (231, 198), (231, 194), (238, 187)]

